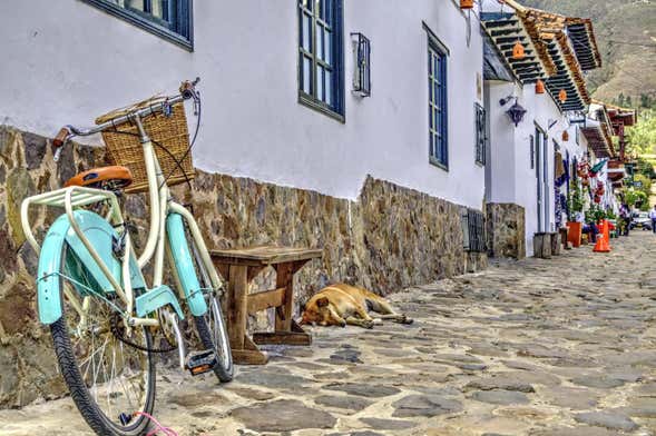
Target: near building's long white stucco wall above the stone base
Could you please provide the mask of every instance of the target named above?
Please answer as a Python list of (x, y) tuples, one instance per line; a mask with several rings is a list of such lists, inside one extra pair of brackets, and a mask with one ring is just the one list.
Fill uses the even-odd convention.
[[(481, 37), (451, 0), (345, 2), (346, 122), (297, 102), (295, 0), (196, 1), (188, 52), (79, 0), (0, 2), (0, 122), (52, 136), (200, 76), (197, 167), (355, 198), (368, 174), (480, 208)], [(429, 164), (427, 33), (450, 50), (447, 172)], [(352, 97), (351, 32), (372, 41), (372, 97)]]

